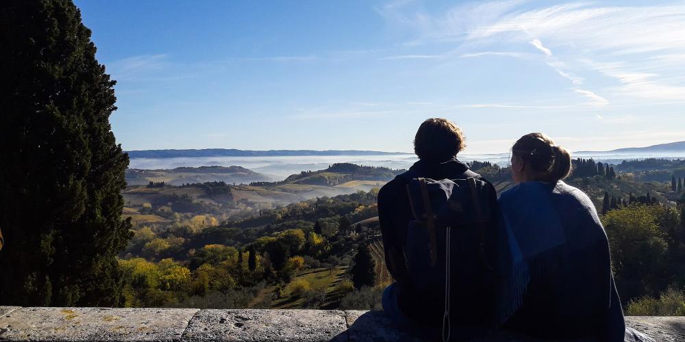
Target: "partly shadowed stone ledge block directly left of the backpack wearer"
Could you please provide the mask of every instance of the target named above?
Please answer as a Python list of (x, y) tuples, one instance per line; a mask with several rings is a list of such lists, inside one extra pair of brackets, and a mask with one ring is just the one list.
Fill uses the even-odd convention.
[(383, 311), (345, 311), (349, 341), (421, 341), (397, 329)]

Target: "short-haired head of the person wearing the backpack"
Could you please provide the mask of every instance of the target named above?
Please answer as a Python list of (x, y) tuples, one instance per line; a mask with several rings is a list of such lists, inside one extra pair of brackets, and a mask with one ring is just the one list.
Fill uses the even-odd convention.
[(455, 157), (465, 146), (462, 130), (443, 118), (425, 120), (414, 137), (414, 153), (421, 160), (447, 161)]

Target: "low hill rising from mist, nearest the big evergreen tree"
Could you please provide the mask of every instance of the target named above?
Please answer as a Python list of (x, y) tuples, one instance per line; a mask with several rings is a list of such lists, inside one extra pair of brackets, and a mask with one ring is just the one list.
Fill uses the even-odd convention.
[(167, 185), (187, 183), (219, 182), (248, 184), (252, 182), (273, 181), (274, 176), (260, 174), (241, 166), (200, 166), (182, 167), (171, 170), (126, 170), (128, 185), (146, 185), (149, 182), (164, 182)]

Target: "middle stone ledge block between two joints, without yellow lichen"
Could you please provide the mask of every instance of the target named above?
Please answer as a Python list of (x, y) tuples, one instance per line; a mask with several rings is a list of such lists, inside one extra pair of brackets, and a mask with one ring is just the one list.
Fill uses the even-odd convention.
[[(343, 311), (201, 310), (184, 341), (329, 341), (345, 332)], [(340, 338), (340, 337), (338, 337)]]

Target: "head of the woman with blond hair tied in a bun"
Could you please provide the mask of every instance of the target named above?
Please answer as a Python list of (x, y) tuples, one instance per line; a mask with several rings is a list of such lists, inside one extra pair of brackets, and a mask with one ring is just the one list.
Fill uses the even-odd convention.
[(556, 146), (545, 133), (523, 135), (512, 147), (512, 154), (530, 165), (536, 181), (556, 183), (571, 174), (571, 153)]

